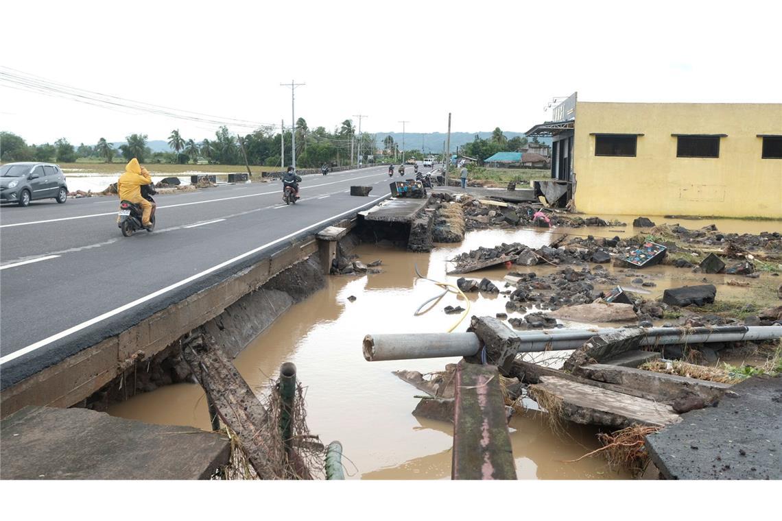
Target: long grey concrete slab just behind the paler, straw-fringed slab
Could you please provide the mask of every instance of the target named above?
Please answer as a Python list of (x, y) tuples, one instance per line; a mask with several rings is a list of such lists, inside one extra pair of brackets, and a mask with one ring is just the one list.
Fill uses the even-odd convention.
[(643, 389), (660, 401), (673, 401), (686, 394), (697, 394), (709, 405), (719, 401), (725, 391), (730, 389), (729, 384), (608, 364), (580, 366), (576, 374), (607, 384)]

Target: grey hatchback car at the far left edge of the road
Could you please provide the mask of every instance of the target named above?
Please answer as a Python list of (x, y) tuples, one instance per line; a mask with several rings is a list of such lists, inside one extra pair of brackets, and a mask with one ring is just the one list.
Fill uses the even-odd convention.
[(65, 174), (50, 162), (9, 162), (0, 166), (0, 202), (27, 206), (34, 199), (66, 202)]

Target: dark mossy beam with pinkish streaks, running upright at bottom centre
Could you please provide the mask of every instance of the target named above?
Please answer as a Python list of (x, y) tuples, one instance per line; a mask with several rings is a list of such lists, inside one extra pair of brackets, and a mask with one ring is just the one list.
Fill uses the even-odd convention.
[(456, 369), (454, 480), (515, 480), (516, 466), (496, 366)]

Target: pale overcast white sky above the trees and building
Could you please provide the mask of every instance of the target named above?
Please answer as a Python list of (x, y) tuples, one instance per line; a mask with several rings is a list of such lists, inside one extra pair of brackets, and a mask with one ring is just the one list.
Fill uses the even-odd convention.
[[(782, 2), (4, 2), (0, 66), (259, 123), (524, 131), (554, 96), (782, 102)], [(2, 70), (2, 69), (0, 69)], [(352, 118), (357, 121), (357, 118)], [(84, 105), (0, 82), (0, 130), (28, 143), (215, 125)], [(230, 128), (230, 127), (229, 127)], [(233, 128), (239, 132), (247, 129)]]

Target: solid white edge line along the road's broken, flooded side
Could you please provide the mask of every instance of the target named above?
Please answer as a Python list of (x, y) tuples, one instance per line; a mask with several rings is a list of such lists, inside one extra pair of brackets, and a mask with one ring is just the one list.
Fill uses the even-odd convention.
[[(390, 194), (384, 196), (384, 197), (390, 197)], [(127, 311), (127, 309), (135, 308), (135, 306), (139, 304), (143, 304), (144, 302), (152, 300), (152, 298), (159, 297), (162, 294), (166, 294), (169, 291), (172, 291), (180, 286), (184, 286), (185, 284), (188, 284), (192, 282), (193, 280), (198, 280), (201, 277), (205, 277), (206, 275), (209, 275), (210, 273), (213, 273), (217, 271), (218, 269), (224, 268), (225, 266), (229, 266), (233, 264), (234, 262), (237, 262), (239, 260), (242, 260), (246, 257), (249, 257), (249, 255), (253, 255), (254, 253), (260, 252), (266, 248), (269, 248), (270, 246), (274, 246), (274, 244), (278, 244), (282, 241), (287, 241), (291, 237), (296, 237), (296, 235), (301, 234), (307, 230), (310, 230), (315, 227), (319, 227), (324, 223), (331, 223), (335, 221), (336, 219), (339, 219), (339, 217), (342, 217), (348, 213), (356, 212), (357, 210), (361, 210), (369, 205), (375, 205), (375, 202), (370, 203), (364, 203), (361, 206), (357, 206), (355, 208), (352, 208), (350, 210), (346, 210), (345, 212), (338, 213), (335, 216), (327, 217), (326, 219), (323, 219), (321, 221), (318, 221), (317, 223), (310, 224), (308, 227), (304, 227), (300, 230), (296, 230), (295, 232), (292, 232), (291, 234), (285, 235), (285, 237), (280, 237), (278, 239), (274, 239), (274, 241), (267, 242), (266, 244), (263, 244), (259, 246), (258, 248), (253, 248), (249, 252), (242, 253), (241, 255), (236, 255), (233, 259), (228, 259), (227, 261), (221, 262), (220, 264), (217, 264), (215, 266), (212, 266), (209, 269), (204, 269), (200, 273), (195, 273), (195, 275), (191, 275), (190, 277), (187, 277), (186, 279), (182, 279), (179, 282), (175, 282), (174, 284), (170, 284), (169, 286), (163, 287), (158, 291), (153, 291), (152, 293), (145, 295), (142, 298), (137, 298), (133, 302), (128, 302), (125, 305), (120, 305), (120, 307), (112, 309), (111, 311), (105, 312), (102, 315), (95, 316), (89, 320), (85, 320), (84, 322), (77, 324), (74, 327), (69, 327), (66, 330), (60, 331), (57, 334), (53, 334), (50, 337), (46, 337), (41, 341), (35, 342), (34, 344), (30, 344), (27, 347), (21, 348), (18, 351), (13, 351), (13, 353), (9, 353), (8, 355), (3, 356), (0, 358), (0, 366), (2, 366), (6, 362), (10, 362), (11, 360), (18, 359), (22, 355), (27, 355), (27, 353), (30, 353), (32, 351), (36, 351), (39, 348), (44, 347), (47, 344), (51, 344), (54, 341), (58, 341), (60, 338), (67, 337), (71, 334), (76, 333), (77, 331), (81, 331), (87, 327), (92, 326), (93, 324), (102, 322), (103, 320), (106, 320), (108, 318), (111, 318), (112, 316), (118, 315), (121, 312)]]

